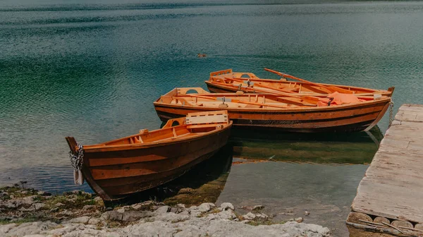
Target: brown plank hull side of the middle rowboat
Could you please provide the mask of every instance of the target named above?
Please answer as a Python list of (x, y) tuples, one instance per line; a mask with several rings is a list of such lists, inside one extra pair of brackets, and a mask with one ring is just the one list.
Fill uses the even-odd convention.
[[(384, 116), (390, 99), (360, 104), (314, 109), (236, 109), (228, 108), (233, 126), (269, 128), (287, 132), (355, 132), (369, 130)], [(210, 107), (181, 107), (154, 102), (161, 121), (178, 118), (194, 111), (209, 111)]]

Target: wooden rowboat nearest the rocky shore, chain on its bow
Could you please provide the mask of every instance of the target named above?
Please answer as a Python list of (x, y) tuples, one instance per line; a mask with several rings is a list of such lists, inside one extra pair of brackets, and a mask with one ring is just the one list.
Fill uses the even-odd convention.
[(66, 137), (74, 169), (82, 171), (104, 200), (118, 200), (171, 181), (217, 152), (228, 141), (226, 111), (189, 113), (158, 130), (96, 145)]

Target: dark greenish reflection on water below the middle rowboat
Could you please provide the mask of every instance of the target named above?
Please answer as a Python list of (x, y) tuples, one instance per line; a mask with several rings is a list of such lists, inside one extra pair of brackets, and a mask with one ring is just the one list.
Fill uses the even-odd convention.
[(280, 162), (368, 164), (383, 138), (374, 127), (369, 132), (349, 134), (260, 133), (232, 130), (233, 157)]

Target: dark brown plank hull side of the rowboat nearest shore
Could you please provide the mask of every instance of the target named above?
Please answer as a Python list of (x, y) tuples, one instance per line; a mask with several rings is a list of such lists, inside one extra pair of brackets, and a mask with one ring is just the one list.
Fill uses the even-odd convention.
[(104, 200), (118, 200), (160, 186), (209, 159), (228, 141), (231, 126), (200, 138), (139, 148), (97, 148), (84, 152), (85, 181)]

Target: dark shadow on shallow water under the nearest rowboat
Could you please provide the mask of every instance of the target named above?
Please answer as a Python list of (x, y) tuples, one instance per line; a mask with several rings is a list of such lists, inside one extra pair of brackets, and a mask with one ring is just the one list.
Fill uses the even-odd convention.
[(232, 150), (231, 145), (226, 145), (213, 157), (197, 164), (183, 176), (156, 188), (131, 195), (124, 200), (109, 202), (108, 205), (131, 204), (146, 200), (164, 202), (166, 205), (177, 203), (199, 205), (202, 202), (216, 202), (231, 170)]

